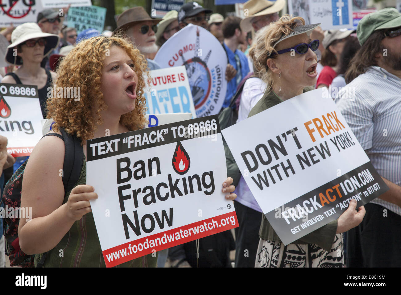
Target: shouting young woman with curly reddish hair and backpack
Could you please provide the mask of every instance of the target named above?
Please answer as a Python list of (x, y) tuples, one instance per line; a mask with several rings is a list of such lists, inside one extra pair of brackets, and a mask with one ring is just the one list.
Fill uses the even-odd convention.
[[(144, 127), (146, 68), (140, 51), (119, 37), (81, 41), (61, 62), (57, 87), (80, 87), (80, 98), (48, 100), (47, 118), (55, 122), (50, 132), (61, 134), (62, 128), (75, 134), (84, 156), (79, 180), (67, 193), (59, 176), (65, 151), (61, 139), (44, 137), (26, 165), (21, 206), (32, 207), (32, 220), (20, 220), (18, 236), (26, 254), (48, 252), (44, 267), (105, 267), (89, 203), (97, 194), (86, 185), (86, 140)], [(236, 197), (231, 183), (228, 178), (223, 185), (227, 199)], [(149, 254), (119, 266), (155, 267), (156, 260)]]

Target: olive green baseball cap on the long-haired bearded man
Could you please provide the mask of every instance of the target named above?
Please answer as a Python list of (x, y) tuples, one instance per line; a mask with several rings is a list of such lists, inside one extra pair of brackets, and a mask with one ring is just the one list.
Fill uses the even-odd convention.
[(401, 13), (395, 8), (384, 8), (364, 16), (356, 28), (356, 36), (362, 46), (374, 31), (401, 26)]

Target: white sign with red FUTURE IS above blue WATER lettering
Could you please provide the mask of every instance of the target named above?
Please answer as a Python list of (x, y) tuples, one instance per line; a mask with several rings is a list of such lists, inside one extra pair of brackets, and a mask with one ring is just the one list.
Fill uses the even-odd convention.
[(194, 102), (184, 66), (150, 71), (150, 88), (145, 92), (147, 114), (192, 113)]

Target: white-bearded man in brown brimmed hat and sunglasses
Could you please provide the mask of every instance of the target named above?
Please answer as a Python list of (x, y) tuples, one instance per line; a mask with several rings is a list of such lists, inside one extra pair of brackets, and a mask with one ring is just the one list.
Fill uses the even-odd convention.
[[(157, 24), (161, 18), (151, 18), (142, 6), (125, 10), (117, 18), (117, 31), (123, 31), (145, 56), (158, 51), (156, 45)], [(147, 59), (150, 70), (160, 69), (160, 65)]]

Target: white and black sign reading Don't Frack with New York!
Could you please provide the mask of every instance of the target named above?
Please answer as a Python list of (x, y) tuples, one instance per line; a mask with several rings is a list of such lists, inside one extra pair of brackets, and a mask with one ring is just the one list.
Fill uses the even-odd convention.
[(284, 244), (337, 219), (351, 199), (360, 206), (388, 190), (326, 88), (279, 103), (222, 133)]

